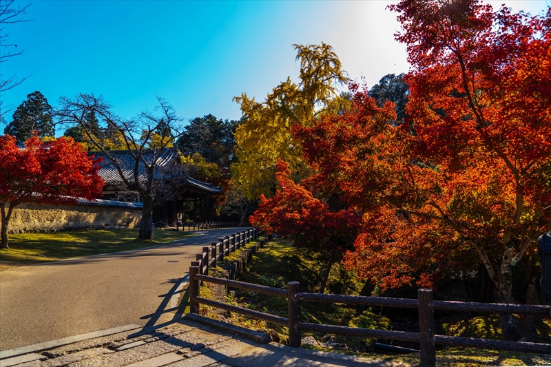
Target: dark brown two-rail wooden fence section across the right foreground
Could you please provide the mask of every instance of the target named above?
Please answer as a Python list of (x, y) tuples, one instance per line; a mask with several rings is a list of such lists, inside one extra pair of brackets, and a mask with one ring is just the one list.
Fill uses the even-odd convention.
[[(208, 251), (207, 251), (208, 252)], [(205, 252), (204, 252), (205, 253)], [(205, 262), (204, 262), (205, 263)], [(551, 344), (531, 342), (508, 342), (505, 340), (477, 339), (469, 337), (448, 337), (435, 335), (435, 310), (445, 311), (470, 311), (477, 313), (528, 313), (549, 314), (550, 306), (524, 305), (524, 304), (482, 304), (475, 302), (451, 302), (433, 300), (431, 289), (419, 289), (417, 300), (388, 297), (364, 297), (357, 295), (327, 295), (318, 293), (300, 293), (298, 282), (287, 283), (287, 290), (271, 288), (238, 282), (235, 280), (209, 277), (199, 273), (200, 266), (193, 265), (189, 268), (189, 308), (191, 313), (199, 313), (199, 304), (205, 304), (223, 310), (240, 313), (262, 319), (273, 324), (280, 324), (289, 327), (289, 346), (298, 347), (301, 342), (302, 331), (314, 331), (320, 333), (333, 333), (340, 335), (351, 335), (357, 337), (373, 337), (380, 339), (401, 340), (405, 342), (417, 342), (420, 344), (421, 363), (424, 366), (435, 366), (436, 351), (435, 345), (468, 346), (474, 348), (494, 348), (503, 350), (514, 350), (519, 352), (551, 353)], [(257, 293), (277, 295), (286, 297), (288, 302), (287, 318), (270, 315), (260, 311), (250, 310), (238, 306), (231, 306), (224, 302), (207, 300), (199, 296), (200, 282), (222, 284), (236, 289), (246, 289)], [(367, 306), (391, 306), (417, 308), (419, 310), (419, 333), (404, 331), (386, 331), (368, 328), (351, 328), (349, 326), (336, 326), (325, 324), (311, 324), (300, 321), (301, 302), (330, 302), (340, 304), (364, 304)]]

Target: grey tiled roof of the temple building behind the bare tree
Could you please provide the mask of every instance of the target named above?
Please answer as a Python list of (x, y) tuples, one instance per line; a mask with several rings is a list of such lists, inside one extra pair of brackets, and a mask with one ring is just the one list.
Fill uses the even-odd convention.
[[(107, 151), (107, 153), (118, 162), (118, 165), (121, 167), (125, 178), (127, 178), (129, 182), (134, 182), (134, 165), (136, 161), (134, 160), (134, 157), (130, 154), (130, 152), (127, 150), (112, 150)], [(98, 171), (98, 174), (103, 178), (103, 180), (105, 180), (106, 185), (123, 185), (123, 180), (118, 174), (118, 170), (111, 162), (111, 160), (109, 160), (105, 156), (105, 154), (103, 154), (101, 151), (90, 152), (90, 154), (96, 157), (103, 158), (103, 162), (100, 164), (102, 168)], [(143, 159), (148, 164), (149, 162), (152, 162), (154, 154), (156, 154), (156, 156), (158, 157), (156, 169), (154, 171), (154, 180), (167, 180), (171, 178), (172, 172), (174, 172), (174, 170), (171, 169), (171, 167), (174, 166), (171, 165), (177, 165), (178, 162), (180, 162), (180, 160), (178, 159), (178, 157), (180, 156), (178, 149), (163, 149), (160, 157), (158, 156), (159, 151), (154, 151), (152, 149), (142, 152)], [(143, 165), (143, 162), (140, 162), (140, 165), (138, 165), (138, 177), (140, 178), (140, 180), (147, 177), (147, 172), (145, 170), (145, 165)], [(199, 193), (208, 193), (212, 195), (222, 192), (222, 189), (220, 187), (213, 186), (206, 182), (201, 182), (191, 177), (187, 178), (187, 181), (184, 183), (184, 185), (185, 187), (187, 187), (187, 189), (197, 191)]]

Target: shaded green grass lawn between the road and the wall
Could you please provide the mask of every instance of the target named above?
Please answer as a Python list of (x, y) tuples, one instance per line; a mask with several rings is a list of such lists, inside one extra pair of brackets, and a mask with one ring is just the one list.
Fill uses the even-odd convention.
[(139, 229), (19, 233), (10, 235), (10, 249), (0, 249), (0, 271), (67, 258), (99, 253), (141, 249), (187, 238), (189, 232), (156, 229), (155, 240), (139, 240)]

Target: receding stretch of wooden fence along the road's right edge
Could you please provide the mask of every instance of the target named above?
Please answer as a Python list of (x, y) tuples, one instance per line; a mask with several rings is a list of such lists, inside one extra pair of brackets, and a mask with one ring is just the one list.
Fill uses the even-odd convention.
[[(245, 244), (256, 240), (259, 232), (256, 228), (240, 231), (236, 234), (218, 238), (218, 242), (211, 242), (210, 246), (203, 247), (202, 253), (196, 255), (196, 261), (191, 262), (191, 266), (197, 266), (198, 274), (209, 275), (209, 267), (216, 266), (216, 262), (223, 261), (225, 256), (244, 247)], [(266, 240), (260, 240), (260, 247), (264, 247)]]

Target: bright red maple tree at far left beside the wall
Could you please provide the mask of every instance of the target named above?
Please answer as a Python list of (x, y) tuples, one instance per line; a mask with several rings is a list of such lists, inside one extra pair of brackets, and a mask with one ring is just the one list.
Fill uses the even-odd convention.
[(100, 162), (72, 138), (43, 142), (33, 136), (20, 148), (12, 136), (0, 136), (0, 248), (9, 248), (8, 222), (17, 205), (72, 205), (77, 198), (101, 196)]

